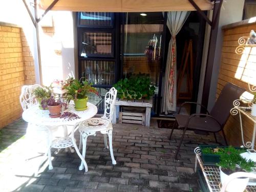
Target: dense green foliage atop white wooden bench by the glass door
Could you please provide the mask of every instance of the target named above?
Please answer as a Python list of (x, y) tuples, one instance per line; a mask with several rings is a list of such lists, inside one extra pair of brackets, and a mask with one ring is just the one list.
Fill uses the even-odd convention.
[(155, 87), (151, 86), (150, 76), (146, 74), (121, 79), (114, 84), (114, 87), (117, 90), (117, 96), (121, 99), (150, 99), (155, 93)]

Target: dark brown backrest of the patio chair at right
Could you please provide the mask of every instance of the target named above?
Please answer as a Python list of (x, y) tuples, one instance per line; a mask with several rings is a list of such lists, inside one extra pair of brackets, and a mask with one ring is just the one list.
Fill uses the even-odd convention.
[(214, 108), (212, 108), (210, 115), (215, 117), (221, 124), (221, 128), (224, 127), (229, 115), (230, 110), (233, 108), (233, 101), (239, 99), (245, 89), (236, 86), (228, 82), (222, 89)]

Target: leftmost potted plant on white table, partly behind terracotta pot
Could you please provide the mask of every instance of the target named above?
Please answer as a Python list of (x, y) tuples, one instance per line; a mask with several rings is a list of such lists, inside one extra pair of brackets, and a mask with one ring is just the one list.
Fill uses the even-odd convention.
[[(36, 89), (33, 90), (33, 95), (35, 96), (36, 98), (36, 101), (38, 103), (38, 106), (39, 106), (39, 109), (43, 109), (42, 106), (41, 106), (41, 101), (42, 99), (45, 99), (45, 98), (50, 98), (51, 95), (52, 95), (52, 87), (49, 86), (45, 86), (45, 87), (37, 87)], [(44, 110), (47, 110), (47, 108), (45, 108)]]

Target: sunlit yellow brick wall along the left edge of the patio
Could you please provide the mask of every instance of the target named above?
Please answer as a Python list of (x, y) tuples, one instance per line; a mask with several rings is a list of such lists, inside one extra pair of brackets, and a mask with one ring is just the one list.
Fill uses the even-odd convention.
[(22, 114), (19, 95), (25, 83), (20, 29), (0, 26), (0, 129)]

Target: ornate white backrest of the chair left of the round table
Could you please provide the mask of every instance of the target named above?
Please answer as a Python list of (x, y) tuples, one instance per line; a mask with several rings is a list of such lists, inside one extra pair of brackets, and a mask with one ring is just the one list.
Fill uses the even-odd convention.
[(39, 84), (33, 84), (31, 86), (23, 86), (22, 93), (19, 96), (20, 105), (22, 105), (23, 111), (30, 108), (30, 106), (37, 104), (35, 97), (33, 96), (33, 90), (41, 87)]

